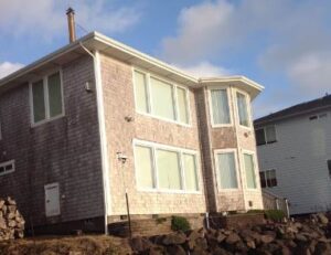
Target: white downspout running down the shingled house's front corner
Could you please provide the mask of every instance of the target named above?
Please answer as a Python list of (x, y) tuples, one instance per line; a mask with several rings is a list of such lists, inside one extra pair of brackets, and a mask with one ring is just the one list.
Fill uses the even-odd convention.
[(108, 234), (108, 215), (110, 212), (110, 185), (109, 185), (109, 161), (108, 161), (108, 148), (107, 148), (107, 134), (106, 134), (106, 121), (105, 121), (105, 105), (104, 105), (104, 93), (102, 83), (102, 68), (99, 52), (95, 51), (90, 53), (82, 42), (79, 45), (93, 57), (94, 75), (95, 75), (95, 88), (97, 96), (97, 114), (98, 114), (98, 126), (100, 137), (100, 150), (102, 150), (102, 172), (103, 172), (103, 185), (104, 185), (104, 204), (105, 204), (105, 234)]

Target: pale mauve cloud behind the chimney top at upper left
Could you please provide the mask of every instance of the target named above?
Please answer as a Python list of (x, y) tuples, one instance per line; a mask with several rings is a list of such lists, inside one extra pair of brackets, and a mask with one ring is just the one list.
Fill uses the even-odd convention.
[[(122, 32), (137, 23), (138, 8), (109, 7), (104, 0), (72, 0), (76, 21), (88, 31)], [(52, 39), (66, 31), (66, 1), (0, 0), (0, 32), (14, 35), (39, 35)]]

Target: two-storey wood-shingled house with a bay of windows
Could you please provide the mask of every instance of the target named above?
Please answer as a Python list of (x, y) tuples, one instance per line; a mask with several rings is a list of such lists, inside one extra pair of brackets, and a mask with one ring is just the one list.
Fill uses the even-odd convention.
[(0, 81), (0, 194), (53, 227), (125, 219), (125, 190), (132, 217), (261, 209), (261, 89), (89, 33)]

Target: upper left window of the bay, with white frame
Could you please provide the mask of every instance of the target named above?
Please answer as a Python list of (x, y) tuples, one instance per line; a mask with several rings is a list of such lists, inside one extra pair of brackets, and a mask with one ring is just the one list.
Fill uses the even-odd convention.
[(228, 88), (210, 88), (209, 92), (212, 126), (232, 125)]

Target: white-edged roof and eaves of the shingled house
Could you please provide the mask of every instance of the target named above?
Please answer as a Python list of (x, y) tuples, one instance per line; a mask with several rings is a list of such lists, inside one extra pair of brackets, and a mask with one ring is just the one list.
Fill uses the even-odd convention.
[(67, 44), (64, 47), (61, 47), (60, 50), (3, 77), (2, 79), (0, 79), (0, 92), (33, 79), (35, 76), (39, 76), (43, 70), (54, 66), (61, 66), (82, 55), (87, 54), (82, 45), (84, 45), (84, 47), (89, 51), (103, 52), (134, 66), (139, 66), (140, 68), (151, 71), (177, 83), (192, 87), (199, 87), (202, 83), (213, 85), (225, 83), (233, 84), (247, 91), (250, 94), (252, 99), (255, 98), (264, 88), (258, 83), (253, 82), (252, 79), (248, 79), (244, 76), (196, 78), (172, 65), (169, 65), (162, 61), (139, 52), (104, 34), (100, 34), (98, 32), (90, 32), (87, 35), (76, 40), (75, 42)]

